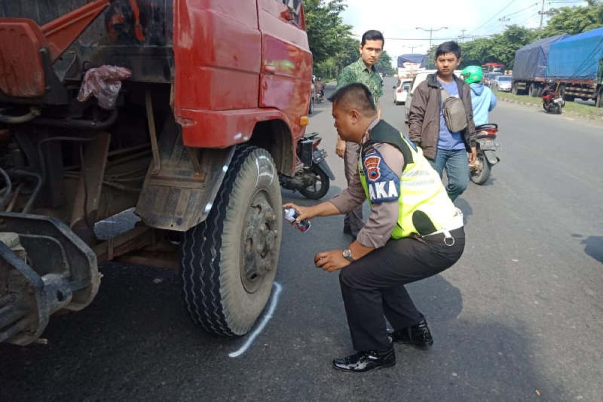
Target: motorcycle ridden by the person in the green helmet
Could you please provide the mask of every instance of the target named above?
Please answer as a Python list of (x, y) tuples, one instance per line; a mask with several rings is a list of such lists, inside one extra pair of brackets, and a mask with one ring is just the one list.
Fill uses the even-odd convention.
[(471, 181), (475, 184), (484, 184), (490, 177), (490, 171), (493, 165), (500, 162), (496, 156), (496, 134), (498, 134), (498, 125), (494, 123), (482, 124), (475, 128), (477, 158), (469, 163), (469, 172)]

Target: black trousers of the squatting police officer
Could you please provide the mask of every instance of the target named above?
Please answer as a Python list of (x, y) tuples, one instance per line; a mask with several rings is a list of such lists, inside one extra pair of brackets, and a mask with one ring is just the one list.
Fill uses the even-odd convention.
[(452, 246), (444, 243), (441, 233), (390, 239), (384, 247), (339, 271), (341, 295), (355, 350), (388, 347), (384, 316), (394, 330), (423, 319), (404, 285), (438, 274), (458, 261), (465, 248), (465, 231), (459, 228), (450, 234), (455, 239)]

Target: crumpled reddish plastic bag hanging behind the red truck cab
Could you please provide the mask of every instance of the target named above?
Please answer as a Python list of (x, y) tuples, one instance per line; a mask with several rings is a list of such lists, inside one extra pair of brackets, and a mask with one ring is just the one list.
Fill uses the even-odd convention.
[(132, 72), (125, 67), (100, 66), (86, 71), (84, 81), (81, 83), (77, 100), (85, 102), (90, 95), (96, 96), (98, 105), (111, 110), (115, 107), (121, 81), (130, 78)]

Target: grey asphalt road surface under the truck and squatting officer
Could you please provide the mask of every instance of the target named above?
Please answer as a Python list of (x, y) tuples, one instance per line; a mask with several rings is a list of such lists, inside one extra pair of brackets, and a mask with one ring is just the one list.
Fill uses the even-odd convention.
[[(386, 79), (384, 118), (406, 131)], [(307, 233), (283, 228), (282, 286), (268, 324), (219, 339), (189, 320), (171, 271), (109, 263), (98, 297), (51, 320), (48, 344), (0, 346), (0, 400), (170, 401), (601, 401), (603, 395), (603, 177), (601, 125), (500, 102), (499, 165), (457, 205), (467, 248), (441, 275), (409, 291), (434, 333), (430, 351), (396, 346), (397, 365), (341, 373), (351, 353), (337, 274), (312, 256), (341, 249), (342, 218)], [(308, 131), (323, 134), (336, 180), (330, 104)], [(283, 190), (283, 201), (311, 204)]]

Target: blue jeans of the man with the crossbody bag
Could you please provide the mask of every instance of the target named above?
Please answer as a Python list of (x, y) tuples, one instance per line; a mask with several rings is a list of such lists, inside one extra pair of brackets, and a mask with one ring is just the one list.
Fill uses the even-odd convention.
[(469, 159), (465, 149), (438, 148), (435, 160), (429, 160), (429, 163), (440, 177), (446, 169), (446, 176), (448, 177), (446, 191), (452, 201), (469, 186)]

